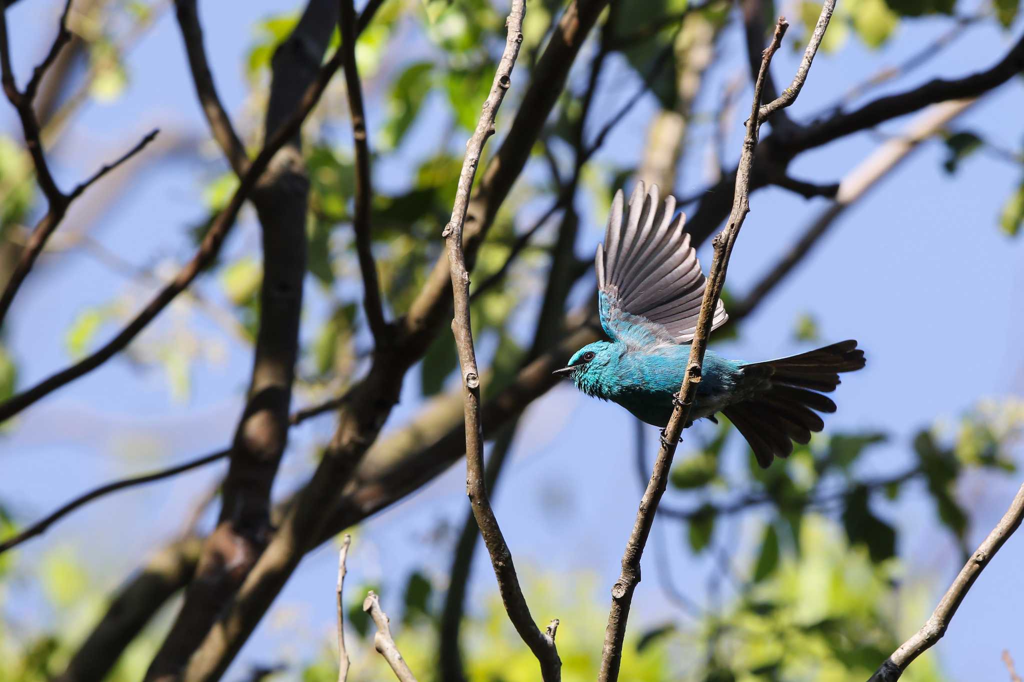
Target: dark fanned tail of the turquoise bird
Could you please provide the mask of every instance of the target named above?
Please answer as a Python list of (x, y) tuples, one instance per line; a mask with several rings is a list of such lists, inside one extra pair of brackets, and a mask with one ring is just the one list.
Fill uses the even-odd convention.
[(763, 382), (755, 397), (722, 410), (767, 467), (775, 456), (787, 457), (793, 442), (806, 444), (824, 428), (817, 412), (835, 412), (836, 403), (821, 393), (839, 385), (840, 372), (864, 366), (857, 342), (845, 340), (788, 358), (743, 365), (743, 379)]

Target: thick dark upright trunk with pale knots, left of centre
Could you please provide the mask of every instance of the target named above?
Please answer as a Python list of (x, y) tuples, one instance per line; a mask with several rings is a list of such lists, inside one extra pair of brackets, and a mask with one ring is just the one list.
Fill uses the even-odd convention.
[[(271, 59), (264, 133), (287, 119), (321, 76), (323, 54), (338, 25), (339, 0), (310, 0)], [(344, 61), (344, 47), (335, 55)], [(217, 527), (207, 539), (197, 579), (150, 667), (152, 680), (176, 679), (223, 606), (266, 547), (270, 491), (288, 443), (289, 407), (299, 350), (309, 180), (302, 136), (292, 131), (253, 190), (260, 222), (263, 280), (252, 378), (236, 429)]]

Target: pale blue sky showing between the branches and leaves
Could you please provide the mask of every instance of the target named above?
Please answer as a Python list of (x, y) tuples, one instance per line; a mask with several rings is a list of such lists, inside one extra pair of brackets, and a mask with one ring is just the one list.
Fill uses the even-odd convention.
[[(842, 0), (841, 0), (842, 2)], [(267, 0), (248, 3), (201, 3), (207, 48), (218, 88), (228, 110), (242, 111), (248, 87), (242, 57), (254, 39), (254, 22), (285, 5)], [(784, 6), (783, 6), (784, 9)], [(973, 5), (963, 6), (970, 11)], [(24, 83), (37, 55), (48, 44), (55, 19), (54, 3), (19, 3), (9, 12), (12, 52)], [(1022, 26), (1010, 32), (991, 21), (964, 32), (954, 45), (910, 77), (871, 95), (901, 90), (935, 76), (957, 77), (994, 62), (1009, 49)], [(926, 41), (944, 33), (939, 19), (904, 21), (881, 51), (854, 40), (837, 57), (821, 55), (807, 87), (792, 109), (798, 120), (842, 95), (883, 64), (898, 63)], [(796, 41), (799, 31), (792, 31)], [(45, 38), (40, 38), (43, 36)], [(743, 59), (741, 37), (731, 31), (722, 41), (716, 70), (734, 73)], [(33, 55), (28, 59), (27, 55)], [(783, 49), (775, 58), (776, 80), (794, 72), (799, 54)], [(130, 87), (123, 97), (89, 103), (74, 121), (61, 144), (52, 151), (55, 174), (62, 186), (84, 177), (98, 160), (119, 155), (153, 127), (185, 139), (206, 140), (208, 133), (195, 95), (173, 17), (165, 12), (156, 28), (131, 53)], [(599, 91), (595, 122), (614, 110), (632, 76), (613, 61), (607, 83)], [(521, 87), (522, 82), (516, 83)], [(371, 140), (383, 119), (379, 90), (368, 86)], [(719, 91), (714, 91), (715, 97)], [(741, 95), (745, 102), (749, 94)], [(698, 102), (709, 110), (715, 101)], [(744, 104), (745, 105), (745, 104)], [(509, 109), (499, 118), (500, 141)], [(645, 99), (615, 129), (598, 161), (634, 158), (644, 141), (645, 122), (654, 103)], [(1024, 110), (1024, 81), (1015, 79), (970, 109), (954, 126), (969, 128), (1001, 146), (1020, 148), (1024, 135), (1019, 112)], [(887, 124), (897, 133), (905, 120)], [(429, 121), (423, 124), (429, 125)], [(594, 123), (592, 130), (599, 125)], [(347, 144), (347, 130), (332, 131)], [(740, 129), (729, 149), (738, 151)], [(0, 106), (0, 130), (16, 131), (11, 109)], [(422, 128), (421, 128), (422, 130)], [(698, 135), (695, 143), (703, 143)], [(799, 157), (795, 176), (818, 182), (841, 178), (879, 143), (863, 133)], [(496, 147), (495, 147), (496, 148)], [(730, 152), (731, 153), (731, 152)], [(701, 154), (688, 164), (677, 187), (690, 194), (707, 183)], [(908, 461), (907, 439), (937, 417), (955, 417), (979, 399), (1020, 395), (1024, 389), (1024, 240), (1008, 238), (996, 226), (999, 207), (1021, 181), (1021, 169), (984, 152), (971, 156), (955, 176), (941, 168), (945, 151), (933, 141), (921, 149), (864, 200), (848, 211), (816, 246), (813, 255), (779, 286), (742, 327), (741, 340), (716, 350), (750, 360), (785, 355), (804, 348), (793, 339), (797, 317), (810, 313), (822, 338), (855, 337), (865, 349), (867, 368), (844, 378), (836, 394), (839, 412), (827, 420), (829, 430), (882, 428), (895, 435), (872, 451), (865, 471), (901, 469)], [(139, 164), (125, 178), (130, 191), (105, 207), (89, 227), (90, 234), (123, 259), (140, 266), (180, 263), (190, 255), (184, 227), (202, 216), (203, 182), (220, 172), (214, 153), (199, 163), (172, 156), (158, 165)], [(380, 170), (378, 169), (380, 173)], [(383, 179), (382, 182), (387, 182)], [(90, 212), (90, 198), (66, 221), (75, 230), (76, 212)], [(826, 204), (806, 201), (778, 189), (757, 192), (729, 268), (728, 286), (742, 292), (783, 253), (811, 216)], [(95, 206), (95, 204), (93, 204)], [(601, 229), (599, 229), (601, 228)], [(593, 253), (603, 230), (603, 217), (591, 217), (581, 229), (578, 254)], [(251, 214), (244, 214), (227, 244), (231, 254), (258, 244)], [(705, 255), (705, 261), (709, 257)], [(587, 279), (586, 290), (593, 278)], [(20, 385), (34, 383), (69, 361), (66, 331), (85, 308), (105, 305), (126, 290), (123, 277), (82, 256), (46, 257), (33, 272), (11, 314), (7, 342), (19, 362)], [(202, 290), (216, 297), (217, 283), (206, 277)], [(580, 293), (586, 293), (581, 288)], [(145, 300), (139, 289), (134, 306)], [(229, 443), (248, 381), (250, 356), (222, 330), (189, 310), (172, 307), (154, 325), (156, 334), (172, 333), (175, 325), (196, 325), (220, 359), (193, 372), (190, 399), (173, 402), (159, 370), (125, 359), (114, 360), (29, 410), (3, 437), (0, 498), (35, 517), (68, 497), (133, 471), (180, 461)], [(307, 325), (308, 326), (308, 325)], [(109, 333), (109, 330), (108, 330)], [(306, 335), (309, 331), (306, 330)], [(152, 336), (156, 337), (156, 336)], [(219, 345), (219, 346), (218, 346)], [(963, 349), (970, 346), (969, 352)], [(418, 401), (415, 380), (407, 382), (403, 400), (388, 427), (414, 414)], [(297, 428), (283, 464), (280, 488), (294, 486), (310, 470), (313, 445), (331, 433), (330, 417)], [(651, 428), (648, 441), (654, 443)], [(618, 560), (633, 524), (640, 496), (633, 473), (632, 417), (614, 405), (586, 399), (564, 385), (538, 401), (526, 413), (513, 457), (496, 496), (496, 510), (525, 570), (589, 571), (599, 587), (595, 599), (606, 600), (606, 587), (618, 573)], [(685, 446), (682, 450), (685, 452)], [(741, 463), (738, 453), (732, 460)], [(189, 504), (214, 482), (221, 469), (208, 470), (108, 498), (76, 513), (35, 540), (20, 553), (20, 565), (31, 571), (51, 548), (77, 548), (97, 584), (114, 588), (137, 562), (139, 550), (157, 548), (177, 530)], [(980, 541), (1009, 504), (1019, 481), (974, 476), (962, 493), (972, 514), (971, 544)], [(670, 493), (670, 498), (671, 498)], [(927, 498), (912, 487), (897, 504), (880, 506), (899, 526), (899, 551), (910, 572), (933, 585), (936, 598), (959, 567), (958, 555), (934, 519)], [(466, 511), (462, 465), (450, 469), (413, 498), (385, 511), (359, 531), (350, 561), (351, 583), (383, 581), (385, 594), (398, 598), (408, 572), (424, 567), (443, 586), (449, 557), (427, 542), (444, 524), (461, 526)], [(758, 528), (756, 514), (738, 529)], [(669, 538), (679, 529), (664, 522)], [(741, 535), (741, 537), (743, 537)], [(669, 542), (675, 549), (678, 543)], [(740, 556), (750, 552), (743, 543)], [(678, 554), (678, 555), (677, 555)], [(978, 581), (952, 627), (937, 647), (952, 679), (1000, 679), (999, 652), (1020, 647), (1019, 613), (1024, 592), (1018, 567), (1024, 561), (1024, 540), (1015, 538)], [(645, 566), (654, 571), (653, 562)], [(679, 584), (699, 586), (710, 566), (673, 552)], [(305, 632), (324, 636), (333, 628), (334, 551), (321, 548), (303, 562), (274, 607), (278, 615), (298, 608)], [(645, 576), (648, 575), (645, 573)], [(694, 580), (694, 577), (699, 577)], [(31, 581), (15, 600), (23, 622), (43, 625), (52, 613), (40, 605)], [(477, 554), (472, 595), (494, 592), (485, 554)], [(532, 604), (539, 619), (549, 613)], [(659, 623), (674, 616), (656, 588), (645, 580), (637, 595), (639, 618), (634, 623)], [(276, 619), (280, 622), (280, 618)], [(267, 646), (286, 643), (300, 650), (313, 644), (289, 642), (290, 631), (276, 628), (275, 615), (265, 618), (232, 668), (238, 677), (253, 662), (266, 662)], [(909, 633), (907, 633), (909, 634)], [(599, 646), (595, 642), (595, 646)], [(303, 647), (309, 647), (303, 649)], [(272, 650), (272, 649), (271, 649)], [(1024, 649), (1017, 651), (1024, 658)]]

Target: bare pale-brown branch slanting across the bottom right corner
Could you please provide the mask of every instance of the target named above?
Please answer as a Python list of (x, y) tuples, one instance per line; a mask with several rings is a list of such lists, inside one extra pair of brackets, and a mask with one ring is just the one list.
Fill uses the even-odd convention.
[(1021, 486), (1017, 491), (1007, 513), (1002, 515), (985, 541), (978, 546), (975, 553), (961, 569), (953, 584), (949, 586), (942, 600), (939, 601), (939, 605), (935, 607), (932, 617), (922, 626), (921, 630), (914, 633), (913, 637), (903, 642), (891, 656), (886, 658), (868, 682), (895, 682), (914, 658), (942, 639), (946, 628), (949, 627), (949, 622), (956, 615), (956, 609), (959, 608), (964, 597), (974, 585), (974, 581), (978, 580), (978, 576), (992, 560), (995, 553), (1020, 527), (1022, 518), (1024, 518), (1024, 486)]

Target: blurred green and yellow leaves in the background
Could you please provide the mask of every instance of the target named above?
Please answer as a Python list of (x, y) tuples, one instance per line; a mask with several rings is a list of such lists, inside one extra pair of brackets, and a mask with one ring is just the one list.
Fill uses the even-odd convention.
[[(952, 0), (844, 0), (822, 50), (837, 58), (851, 51), (881, 50), (896, 39), (903, 24), (925, 16), (939, 15), (951, 31), (981, 22), (997, 22), (1005, 29), (1020, 25), (1018, 0), (995, 0), (967, 8), (971, 13), (965, 13), (962, 4)], [(767, 13), (785, 10), (791, 14), (795, 34), (791, 44), (797, 49), (812, 30), (819, 9), (814, 2), (799, 1), (781, 3)], [(132, 48), (171, 11), (170, 3), (161, 1), (75, 3), (73, 49), (78, 65), (69, 69), (67, 83), (44, 93), (40, 105), (48, 144), (67, 134), (76, 112), (90, 100), (110, 102), (131, 90), (133, 81), (140, 77), (132, 62)], [(530, 0), (517, 83), (527, 82), (560, 11), (559, 2)], [(479, 252), (473, 280), (487, 285), (474, 294), (473, 321), (480, 354), (494, 369), (488, 392), (499, 392), (529, 352), (536, 326), (531, 320), (552, 276), (551, 256), (564, 248), (559, 231), (566, 193), (581, 220), (598, 217), (595, 220), (599, 221), (614, 189), (638, 171), (640, 160), (620, 163), (601, 155), (580, 167), (587, 145), (601, 141), (601, 126), (614, 123), (613, 115), (635, 91), (653, 97), (658, 111), (655, 118), (678, 115), (686, 122), (690, 130), (677, 140), (680, 144), (715, 138), (708, 145), (710, 151), (705, 150), (717, 156), (711, 164), (713, 180), (727, 166), (723, 154), (734, 156), (736, 145), (717, 137), (723, 128), (735, 129), (742, 118), (734, 110), (735, 94), (722, 88), (723, 92), (698, 98), (703, 74), (694, 64), (702, 59), (707, 62), (707, 55), (701, 54), (715, 51), (716, 40), (736, 25), (738, 14), (732, 5), (718, 0), (695, 7), (685, 0), (631, 0), (615, 3), (604, 15), (604, 28), (595, 32), (584, 54), (590, 58), (608, 56), (612, 62), (613, 67), (602, 74), (602, 79), (604, 87), (617, 94), (613, 105), (608, 110), (589, 110), (601, 107), (591, 106), (588, 99), (587, 69), (573, 72), (531, 150), (530, 164), (503, 203)], [(252, 150), (261, 141), (270, 58), (297, 18), (296, 11), (290, 9), (266, 16), (251, 28), (251, 44), (242, 57), (250, 92), (241, 107), (239, 129)], [(388, 0), (357, 44), (359, 72), (373, 103), (373, 252), (389, 316), (408, 310), (441, 254), (437, 237), (451, 212), (463, 144), (475, 125), (501, 52), (504, 18), (504, 5), (496, 6), (489, 0)], [(213, 33), (213, 27), (209, 29)], [(931, 49), (941, 47), (938, 44)], [(864, 84), (859, 91), (852, 89), (850, 101), (915, 65), (881, 71), (874, 82)], [(742, 84), (743, 78), (740, 70), (732, 82)], [(516, 109), (522, 92), (520, 87), (510, 90), (503, 118), (508, 120), (507, 111)], [(746, 96), (742, 92), (739, 102)], [(712, 101), (719, 97), (721, 102)], [(601, 102), (607, 104), (608, 100)], [(183, 105), (193, 106), (193, 102)], [(358, 376), (372, 352), (359, 305), (361, 288), (357, 285), (353, 237), (347, 229), (353, 211), (353, 154), (347, 134), (338, 134), (339, 130), (345, 133), (347, 126), (344, 84), (339, 78), (306, 127), (311, 195), (309, 277), (297, 384), (301, 404), (338, 395)], [(725, 137), (732, 140), (734, 130)], [(41, 211), (32, 165), (20, 142), (16, 133), (0, 133), (2, 280), (6, 280), (24, 244), (26, 226)], [(1004, 140), (986, 140), (977, 131), (954, 129), (943, 135), (943, 142), (947, 149), (943, 166), (950, 174), (963, 172), (972, 154), (987, 152), (1005, 158), (1009, 172), (1024, 178), (1021, 140), (1014, 146)], [(184, 140), (180, 144), (199, 148), (203, 160), (197, 182), (204, 204), (196, 208), (193, 224), (183, 228), (195, 244), (238, 181), (225, 172), (223, 163), (215, 161), (209, 143)], [(488, 144), (485, 155), (496, 149), (497, 143)], [(481, 169), (485, 161), (481, 161)], [(678, 163), (677, 155), (671, 166)], [(671, 188), (672, 176), (667, 182)], [(557, 210), (549, 211), (552, 208)], [(1019, 233), (1022, 222), (1024, 180), (991, 216), (980, 217), (975, 227), (998, 229), (1011, 238)], [(531, 238), (524, 240), (523, 235)], [(570, 252), (573, 245), (570, 241)], [(124, 323), (145, 300), (153, 283), (173, 273), (178, 260), (164, 255), (143, 267), (125, 263), (116, 249), (90, 236), (88, 226), (57, 235), (51, 251), (96, 259), (128, 280), (118, 297), (79, 312), (65, 332), (69, 360), (94, 349)], [(577, 282), (587, 271), (588, 258), (579, 249), (569, 256), (571, 282)], [(511, 263), (510, 257), (515, 257)], [(209, 278), (213, 284), (196, 288), (176, 302), (166, 320), (131, 346), (130, 360), (142, 368), (159, 369), (166, 376), (169, 398), (187, 402), (197, 372), (253, 344), (260, 315), (261, 277), (258, 243), (252, 239), (233, 242), (213, 268)], [(575, 286), (567, 298), (584, 302), (588, 293), (587, 287)], [(558, 303), (559, 310), (564, 307), (564, 298)], [(202, 322), (197, 322), (200, 319)], [(818, 335), (814, 316), (803, 313), (795, 325), (795, 338), (814, 340)], [(18, 387), (18, 363), (19, 358), (0, 344), (0, 400), (10, 397)], [(441, 333), (416, 367), (421, 397), (450, 388), (456, 367), (451, 339)], [(7, 429), (16, 427), (5, 425)], [(935, 587), (906, 580), (906, 566), (897, 555), (901, 536), (891, 520), (877, 511), (878, 502), (897, 500), (911, 488), (924, 490), (935, 516), (967, 556), (973, 549), (969, 543), (971, 513), (959, 501), (958, 486), (965, 476), (979, 471), (1015, 473), (1022, 433), (1024, 402), (980, 402), (953, 422), (922, 425), (909, 442), (900, 444), (909, 453), (911, 465), (872, 478), (859, 464), (872, 448), (892, 443), (892, 435), (885, 430), (826, 431), (809, 446), (798, 446), (787, 460), (762, 470), (745, 448), (743, 452), (729, 449), (739, 438), (726, 420), (717, 428), (694, 429), (672, 471), (674, 493), (660, 512), (669, 519), (665, 522), (670, 533), (660, 542), (708, 557), (719, 563), (719, 570), (707, 585), (643, 584), (641, 589), (660, 589), (666, 599), (677, 603), (679, 618), (646, 631), (634, 629), (623, 678), (637, 682), (866, 679), (927, 617)], [(694, 442), (700, 447), (694, 448)], [(643, 457), (651, 452), (649, 447), (638, 448), (643, 472), (649, 470)], [(731, 465), (726, 465), (732, 456)], [(736, 528), (727, 520), (741, 514), (758, 519), (753, 552), (734, 552), (737, 539), (726, 535), (729, 528)], [(4, 537), (27, 520), (28, 514), (5, 505), (0, 497)], [(19, 564), (19, 558), (16, 553), (0, 555), (0, 680), (49, 680), (59, 674), (100, 617), (108, 597), (97, 587), (97, 577), (89, 575), (74, 554), (60, 547), (46, 551), (32, 565)], [(14, 598), (30, 581), (38, 582), (44, 594), (43, 602), (31, 607)], [(526, 581), (531, 603), (544, 604), (544, 612), (558, 613), (561, 619), (558, 646), (566, 682), (594, 679), (599, 665), (605, 604), (603, 592), (600, 600), (592, 597), (600, 589), (594, 581), (586, 573), (536, 573)], [(385, 608), (392, 621), (400, 624), (399, 647), (423, 680), (441, 679), (433, 671), (445, 587), (445, 576), (415, 572), (403, 592), (382, 592)], [(353, 680), (389, 676), (373, 651), (372, 628), (358, 608), (370, 588), (382, 590), (375, 585), (349, 588), (354, 605), (348, 609)], [(165, 606), (136, 638), (110, 679), (141, 678), (169, 625), (172, 605)], [(462, 643), (471, 679), (536, 679), (536, 662), (496, 599), (483, 608), (470, 609), (465, 619)], [(253, 671), (249, 679), (335, 679), (333, 635), (318, 636), (323, 652), (315, 660), (289, 661), (282, 669)], [(1019, 645), (1019, 640), (1007, 641), (1008, 645), (1014, 643)], [(1024, 649), (1019, 653), (1024, 656)], [(287, 651), (282, 658), (289, 660)], [(947, 678), (934, 658), (925, 657), (903, 679), (924, 682)]]

